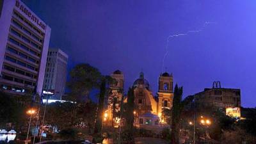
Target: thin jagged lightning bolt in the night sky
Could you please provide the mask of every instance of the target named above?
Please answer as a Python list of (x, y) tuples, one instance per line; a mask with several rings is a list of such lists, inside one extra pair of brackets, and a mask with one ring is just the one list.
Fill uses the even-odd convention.
[(165, 58), (166, 58), (166, 56), (168, 56), (168, 53), (169, 53), (168, 47), (169, 47), (169, 44), (170, 44), (170, 40), (172, 40), (173, 38), (179, 37), (179, 36), (186, 36), (186, 35), (189, 35), (191, 33), (200, 33), (201, 31), (204, 31), (205, 27), (207, 27), (209, 24), (217, 24), (217, 22), (204, 22), (202, 28), (200, 28), (200, 29), (186, 31), (186, 33), (177, 33), (175, 35), (169, 35), (166, 38), (165, 52), (164, 52), (163, 61), (162, 61), (162, 72), (164, 71)]

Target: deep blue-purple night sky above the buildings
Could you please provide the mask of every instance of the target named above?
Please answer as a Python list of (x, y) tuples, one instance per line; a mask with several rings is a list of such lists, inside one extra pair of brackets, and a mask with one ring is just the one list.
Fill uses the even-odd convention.
[[(103, 74), (120, 69), (125, 87), (141, 69), (154, 93), (169, 35), (165, 59), (184, 95), (211, 88), (241, 88), (242, 106), (255, 107), (256, 1), (78, 1), (23, 0), (51, 26), (51, 47), (59, 47), (76, 63), (90, 63)], [(165, 69), (165, 68), (164, 68)]]

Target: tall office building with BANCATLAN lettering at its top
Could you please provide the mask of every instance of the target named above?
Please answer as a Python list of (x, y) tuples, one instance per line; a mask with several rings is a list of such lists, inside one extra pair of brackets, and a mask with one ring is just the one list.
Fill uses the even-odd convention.
[(0, 88), (41, 94), (51, 28), (20, 0), (0, 3)]

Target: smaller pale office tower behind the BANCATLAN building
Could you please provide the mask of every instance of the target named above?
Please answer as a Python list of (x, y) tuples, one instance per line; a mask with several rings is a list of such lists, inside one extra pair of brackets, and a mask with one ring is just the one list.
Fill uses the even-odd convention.
[(65, 93), (68, 55), (60, 49), (49, 49), (44, 77), (44, 92), (51, 93), (51, 99), (61, 100)]

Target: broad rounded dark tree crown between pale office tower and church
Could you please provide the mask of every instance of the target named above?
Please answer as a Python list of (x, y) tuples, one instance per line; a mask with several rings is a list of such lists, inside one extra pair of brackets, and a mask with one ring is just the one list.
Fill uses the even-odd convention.
[(99, 88), (102, 79), (99, 70), (88, 63), (76, 65), (70, 71), (70, 77), (68, 88), (71, 90), (70, 95), (77, 102), (83, 102), (93, 88)]

